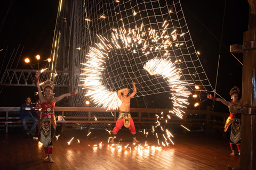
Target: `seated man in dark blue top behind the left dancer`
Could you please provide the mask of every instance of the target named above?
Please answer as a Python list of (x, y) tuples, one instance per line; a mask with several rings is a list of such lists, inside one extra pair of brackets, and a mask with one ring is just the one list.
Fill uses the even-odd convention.
[[(37, 119), (35, 118), (36, 117), (36, 113), (33, 112), (33, 111), (22, 111), (22, 107), (34, 107), (31, 103), (31, 99), (30, 97), (27, 97), (26, 102), (23, 103), (21, 106), (20, 106), (20, 121), (18, 121), (19, 123), (22, 122), (22, 125), (24, 127), (24, 129), (26, 130), (26, 134), (29, 134), (29, 131), (28, 131), (28, 127), (27, 127), (27, 122), (28, 121), (33, 121), (33, 125), (31, 127), (31, 129), (34, 129), (34, 127), (36, 126), (37, 124)], [(33, 114), (35, 117), (32, 117), (32, 115), (30, 114)], [(31, 132), (31, 134), (35, 134), (34, 131)]]

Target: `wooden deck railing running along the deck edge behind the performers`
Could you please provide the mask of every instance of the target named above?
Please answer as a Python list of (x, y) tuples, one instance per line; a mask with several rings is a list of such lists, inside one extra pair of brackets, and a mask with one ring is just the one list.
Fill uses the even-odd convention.
[[(187, 126), (204, 126), (206, 132), (210, 131), (210, 127), (223, 131), (228, 113), (213, 112), (210, 109), (202, 110), (185, 110), (183, 118), (170, 114), (169, 109), (154, 109), (154, 108), (131, 108), (131, 115), (137, 127), (152, 125), (156, 122), (156, 115), (159, 115), (162, 125), (187, 125)], [(19, 120), (20, 107), (0, 107), (0, 125), (5, 126), (5, 131), (8, 132), (9, 126), (21, 126), (17, 123)], [(86, 116), (74, 116), (76, 113), (85, 113)], [(100, 114), (99, 114), (100, 113)], [(104, 113), (104, 114), (102, 114)], [(64, 126), (107, 126), (115, 123), (118, 118), (118, 111), (108, 110), (100, 107), (55, 107), (55, 116), (65, 116), (65, 121), (58, 121), (61, 125), (61, 131)], [(107, 115), (107, 116), (102, 116)], [(170, 115), (171, 118), (168, 116)]]

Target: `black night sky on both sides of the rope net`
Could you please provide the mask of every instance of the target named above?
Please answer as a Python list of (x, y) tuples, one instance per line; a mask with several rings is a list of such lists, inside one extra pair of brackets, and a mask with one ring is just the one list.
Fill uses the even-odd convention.
[[(8, 12), (10, 3), (11, 7)], [(7, 64), (6, 61), (9, 61), (14, 49), (14, 52), (17, 51), (19, 44), (17, 56), (12, 59), (12, 69), (15, 69), (23, 47), (17, 69), (31, 69), (29, 65), (24, 65), (25, 57), (33, 58), (39, 54), (46, 59), (50, 56), (58, 3), (56, 0), (1, 2), (0, 50), (4, 49), (0, 52), (1, 63)], [(199, 59), (212, 86), (215, 87), (225, 1), (181, 0), (181, 5), (195, 48), (201, 53)], [(229, 48), (231, 44), (243, 43), (243, 32), (248, 30), (248, 13), (249, 4), (246, 0), (227, 1), (217, 82), (217, 92), (227, 100), (229, 100), (229, 90), (232, 87), (237, 86), (242, 89), (242, 65), (230, 54)], [(242, 62), (241, 54), (234, 55)], [(0, 75), (4, 70), (5, 67), (2, 68)], [(25, 97), (21, 91), (24, 90), (17, 87), (3, 88), (0, 106), (20, 106)], [(34, 96), (36, 88), (26, 88), (25, 91), (28, 91), (29, 96)], [(6, 97), (11, 92), (15, 98)], [(167, 99), (168, 96), (165, 97)], [(154, 98), (158, 100), (159, 97), (155, 95)], [(36, 97), (32, 99), (35, 101)], [(151, 99), (148, 102), (150, 103)], [(150, 105), (165, 108), (154, 102)], [(211, 105), (211, 103), (206, 101), (204, 105)], [(225, 108), (225, 112), (227, 111), (227, 108), (220, 103), (217, 103), (215, 108), (217, 110)]]

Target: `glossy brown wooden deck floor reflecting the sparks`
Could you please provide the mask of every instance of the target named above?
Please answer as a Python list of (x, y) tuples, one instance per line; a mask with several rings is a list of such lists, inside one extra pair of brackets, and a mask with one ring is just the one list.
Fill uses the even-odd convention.
[[(15, 128), (5, 134), (0, 130), (0, 169), (227, 169), (238, 167), (239, 156), (230, 156), (229, 142), (221, 134), (205, 132), (173, 132), (174, 145), (161, 150), (135, 149), (127, 129), (121, 129), (116, 141), (123, 148), (110, 147), (109, 133), (104, 129), (92, 129), (89, 136), (86, 130), (65, 129), (57, 131), (58, 141), (53, 140), (54, 163), (42, 158), (43, 147), (33, 140), (37, 135), (27, 137)], [(161, 134), (159, 134), (161, 135)], [(70, 145), (68, 141), (72, 138)], [(160, 137), (159, 137), (160, 138)], [(80, 143), (77, 142), (79, 139)], [(157, 146), (156, 136), (137, 133), (137, 139), (144, 146)], [(102, 146), (99, 143), (102, 142)], [(118, 142), (116, 142), (118, 143)], [(129, 148), (124, 148), (129, 144)], [(98, 147), (94, 147), (98, 145)], [(136, 145), (135, 145), (136, 146)]]

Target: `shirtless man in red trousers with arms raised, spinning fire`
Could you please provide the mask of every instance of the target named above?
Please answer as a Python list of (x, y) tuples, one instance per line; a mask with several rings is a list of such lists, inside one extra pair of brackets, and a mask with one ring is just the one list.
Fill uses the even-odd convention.
[(112, 131), (112, 137), (111, 137), (112, 139), (110, 142), (114, 142), (115, 135), (124, 125), (125, 128), (129, 128), (129, 130), (131, 131), (133, 142), (139, 143), (139, 141), (135, 137), (136, 130), (135, 130), (135, 126), (134, 126), (134, 123), (132, 120), (132, 116), (130, 114), (131, 98), (133, 98), (133, 96), (135, 96), (135, 94), (137, 92), (134, 82), (132, 83), (132, 85), (133, 85), (133, 92), (130, 96), (127, 96), (128, 92), (129, 92), (129, 89), (127, 89), (127, 88), (118, 90), (118, 92), (117, 92), (117, 96), (122, 101), (122, 104), (119, 107), (118, 120), (116, 121), (116, 126)]

